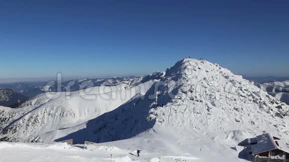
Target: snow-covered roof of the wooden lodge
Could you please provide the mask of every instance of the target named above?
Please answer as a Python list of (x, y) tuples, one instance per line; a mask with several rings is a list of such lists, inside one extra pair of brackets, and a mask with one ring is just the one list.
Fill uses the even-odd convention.
[(256, 139), (258, 143), (251, 146), (253, 155), (257, 155), (275, 149), (282, 150), (279, 146), (277, 146), (275, 140), (269, 133), (257, 136)]

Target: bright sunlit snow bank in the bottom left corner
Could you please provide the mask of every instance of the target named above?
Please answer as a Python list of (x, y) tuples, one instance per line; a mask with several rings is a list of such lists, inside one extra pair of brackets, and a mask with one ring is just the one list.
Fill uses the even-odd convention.
[[(27, 144), (0, 142), (0, 162), (133, 162), (130, 157), (110, 157), (108, 151), (89, 151), (66, 143)], [(102, 150), (102, 151), (101, 151)], [(113, 151), (113, 150), (111, 150)], [(112, 152), (110, 152), (112, 153)], [(134, 161), (135, 162), (135, 161)]]

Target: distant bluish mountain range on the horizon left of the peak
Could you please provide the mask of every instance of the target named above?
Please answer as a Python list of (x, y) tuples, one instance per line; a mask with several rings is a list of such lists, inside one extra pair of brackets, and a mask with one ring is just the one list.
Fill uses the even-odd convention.
[(163, 72), (154, 72), (145, 77), (133, 76), (70, 80), (62, 81), (60, 85), (57, 85), (56, 81), (5, 83), (0, 84), (0, 106), (16, 108), (22, 101), (45, 92), (72, 92), (96, 86), (116, 86), (120, 84), (134, 86), (153, 79), (159, 79), (163, 77), (163, 75)]

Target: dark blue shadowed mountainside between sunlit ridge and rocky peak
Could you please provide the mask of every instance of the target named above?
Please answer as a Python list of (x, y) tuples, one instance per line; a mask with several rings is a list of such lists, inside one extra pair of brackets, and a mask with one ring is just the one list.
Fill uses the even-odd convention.
[[(117, 109), (89, 120), (86, 128), (55, 141), (73, 139), (75, 144), (83, 144), (84, 141), (103, 143), (129, 139), (148, 131), (155, 124), (155, 120), (147, 120), (150, 108), (156, 103), (156, 98), (151, 97), (154, 93), (152, 86), (144, 96), (135, 95)], [(67, 129), (73, 130), (73, 127)]]

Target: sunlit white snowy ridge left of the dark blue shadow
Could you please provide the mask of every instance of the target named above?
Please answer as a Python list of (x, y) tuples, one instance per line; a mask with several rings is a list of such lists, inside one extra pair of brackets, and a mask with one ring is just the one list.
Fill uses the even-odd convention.
[(40, 94), (17, 109), (2, 108), (0, 113), (9, 116), (9, 121), (1, 124), (0, 137), (9, 141), (32, 141), (38, 134), (75, 126), (119, 107), (136, 94), (144, 94), (152, 83)]

